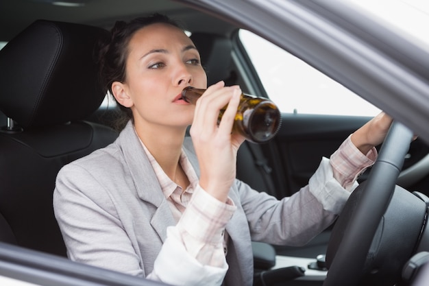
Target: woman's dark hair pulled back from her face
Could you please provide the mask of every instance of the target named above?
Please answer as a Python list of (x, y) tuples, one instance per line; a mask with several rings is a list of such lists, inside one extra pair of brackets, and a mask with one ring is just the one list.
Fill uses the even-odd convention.
[[(151, 16), (138, 17), (130, 22), (117, 21), (110, 31), (110, 38), (101, 43), (99, 49), (99, 81), (103, 92), (112, 93), (113, 82), (125, 81), (125, 67), (128, 56), (128, 44), (132, 36), (141, 28), (156, 23), (165, 23), (183, 29), (177, 22), (162, 14), (152, 14)], [(114, 128), (121, 130), (127, 121), (132, 119), (130, 108), (126, 108), (117, 103), (123, 111), (114, 123)]]

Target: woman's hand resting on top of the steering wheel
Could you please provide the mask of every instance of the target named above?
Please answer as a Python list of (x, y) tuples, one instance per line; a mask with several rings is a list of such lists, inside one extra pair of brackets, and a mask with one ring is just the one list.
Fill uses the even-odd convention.
[(352, 142), (360, 152), (366, 155), (372, 147), (380, 145), (384, 141), (392, 120), (389, 115), (380, 112), (352, 134)]

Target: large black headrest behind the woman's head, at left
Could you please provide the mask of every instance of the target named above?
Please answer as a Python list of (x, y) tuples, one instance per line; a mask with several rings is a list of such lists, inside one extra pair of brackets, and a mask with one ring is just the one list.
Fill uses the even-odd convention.
[(38, 20), (0, 51), (0, 110), (23, 128), (84, 119), (105, 96), (95, 49), (108, 31)]

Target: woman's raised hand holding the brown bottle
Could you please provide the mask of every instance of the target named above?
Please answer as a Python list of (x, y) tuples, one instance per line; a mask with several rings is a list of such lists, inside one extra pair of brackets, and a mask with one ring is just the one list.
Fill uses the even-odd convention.
[[(191, 138), (199, 161), (200, 186), (213, 197), (226, 202), (236, 177), (236, 154), (245, 140), (232, 134), (232, 126), (240, 101), (238, 86), (225, 87), (218, 82), (207, 88), (195, 106)], [(226, 106), (219, 126), (219, 110)]]

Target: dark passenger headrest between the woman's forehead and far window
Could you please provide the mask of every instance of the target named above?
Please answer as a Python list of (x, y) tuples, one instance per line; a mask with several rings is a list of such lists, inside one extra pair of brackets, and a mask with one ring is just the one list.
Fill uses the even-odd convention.
[(193, 33), (191, 40), (197, 47), (201, 64), (206, 69), (208, 85), (230, 78), (231, 40), (217, 34)]

